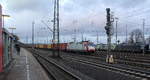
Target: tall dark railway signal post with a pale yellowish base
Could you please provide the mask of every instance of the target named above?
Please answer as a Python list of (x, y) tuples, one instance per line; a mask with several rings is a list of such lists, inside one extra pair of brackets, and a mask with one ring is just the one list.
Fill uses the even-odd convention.
[(107, 63), (114, 63), (113, 55), (111, 54), (111, 36), (113, 35), (113, 22), (114, 18), (113, 15), (110, 14), (110, 8), (106, 8), (107, 12), (107, 23), (105, 26), (106, 34), (107, 34), (107, 57), (106, 62)]

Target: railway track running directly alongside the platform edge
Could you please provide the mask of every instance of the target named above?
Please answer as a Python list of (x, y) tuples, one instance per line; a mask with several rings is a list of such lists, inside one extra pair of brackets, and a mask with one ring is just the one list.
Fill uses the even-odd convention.
[(33, 55), (44, 67), (52, 80), (81, 80), (78, 76), (58, 65), (55, 61), (38, 54), (37, 51)]

